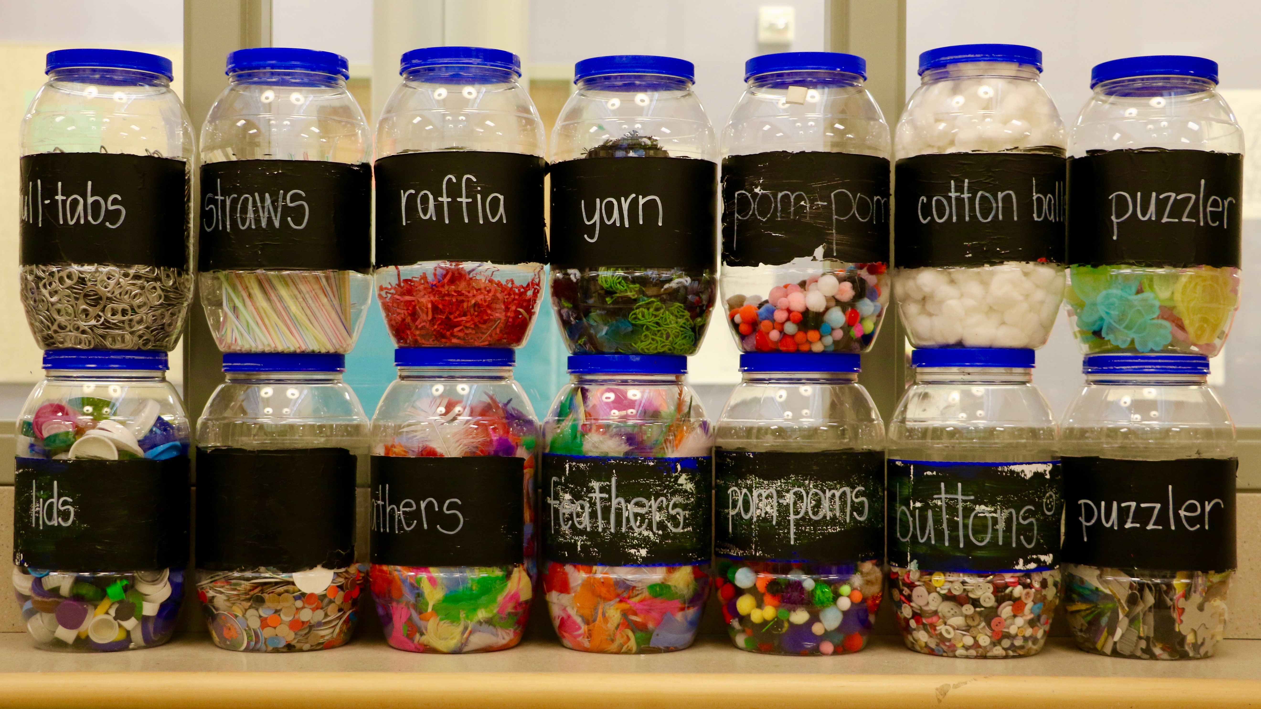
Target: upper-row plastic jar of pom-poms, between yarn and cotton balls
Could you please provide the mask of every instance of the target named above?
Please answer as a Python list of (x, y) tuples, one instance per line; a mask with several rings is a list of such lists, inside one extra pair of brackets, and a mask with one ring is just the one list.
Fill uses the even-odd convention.
[(723, 131), (721, 285), (736, 345), (868, 351), (889, 305), (890, 214), (889, 126), (863, 87), (866, 62), (764, 54), (744, 81)]

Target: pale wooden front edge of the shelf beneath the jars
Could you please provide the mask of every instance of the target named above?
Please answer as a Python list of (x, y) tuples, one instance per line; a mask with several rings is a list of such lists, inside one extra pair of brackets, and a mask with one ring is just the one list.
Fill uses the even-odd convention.
[[(1006, 706), (1251, 706), (1261, 680), (995, 675), (665, 672), (32, 672), (0, 674), (0, 708), (214, 708), (371, 705), (555, 709)], [(561, 700), (569, 698), (567, 700)]]

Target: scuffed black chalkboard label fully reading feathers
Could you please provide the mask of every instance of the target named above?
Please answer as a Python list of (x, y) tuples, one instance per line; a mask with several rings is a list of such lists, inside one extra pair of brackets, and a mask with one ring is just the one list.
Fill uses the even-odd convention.
[(710, 559), (712, 458), (543, 453), (543, 558), (672, 565)]

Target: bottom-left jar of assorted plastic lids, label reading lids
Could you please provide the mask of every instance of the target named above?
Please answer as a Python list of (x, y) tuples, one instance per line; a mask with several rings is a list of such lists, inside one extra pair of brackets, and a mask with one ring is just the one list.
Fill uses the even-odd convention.
[(48, 350), (18, 422), (13, 584), (35, 647), (170, 640), (188, 565), (188, 418), (166, 353)]

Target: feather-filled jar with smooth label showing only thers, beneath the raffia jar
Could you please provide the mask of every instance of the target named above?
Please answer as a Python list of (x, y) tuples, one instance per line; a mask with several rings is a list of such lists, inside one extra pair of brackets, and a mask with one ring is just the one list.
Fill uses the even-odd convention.
[(398, 379), (372, 417), (369, 487), (372, 596), (391, 647), (521, 642), (537, 569), (538, 419), (513, 359), (506, 348), (395, 351)]

